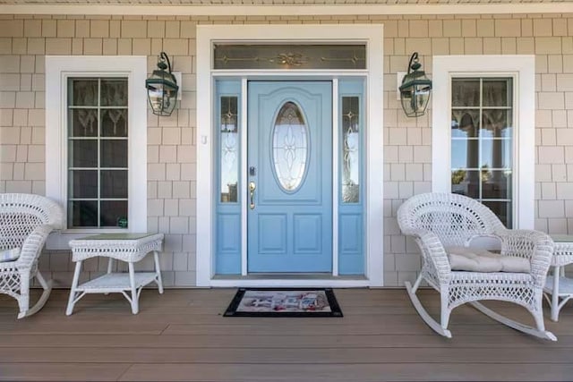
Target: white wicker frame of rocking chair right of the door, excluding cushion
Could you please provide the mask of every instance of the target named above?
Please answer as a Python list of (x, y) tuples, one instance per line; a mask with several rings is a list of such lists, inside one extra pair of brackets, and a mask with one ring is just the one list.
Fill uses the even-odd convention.
[[(423, 193), (407, 199), (398, 208), (402, 233), (414, 236), (423, 257), (423, 266), (414, 286), (406, 282), (407, 293), (429, 327), (451, 338), (449, 315), (469, 302), (477, 310), (529, 335), (557, 341), (543, 323), (543, 285), (552, 259), (553, 242), (545, 233), (509, 230), (493, 212), (475, 199), (451, 193)], [(501, 255), (529, 259), (529, 273), (471, 272), (451, 270), (444, 247), (467, 246), (480, 236), (500, 240)], [(440, 323), (433, 319), (416, 296), (422, 280), (440, 292)], [(498, 300), (517, 303), (535, 318), (529, 327), (501, 316), (477, 302)]]

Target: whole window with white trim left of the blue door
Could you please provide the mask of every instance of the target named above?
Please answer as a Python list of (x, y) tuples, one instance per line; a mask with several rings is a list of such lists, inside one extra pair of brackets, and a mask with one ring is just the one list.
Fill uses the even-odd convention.
[(146, 57), (46, 58), (46, 190), (69, 232), (147, 231), (146, 77)]

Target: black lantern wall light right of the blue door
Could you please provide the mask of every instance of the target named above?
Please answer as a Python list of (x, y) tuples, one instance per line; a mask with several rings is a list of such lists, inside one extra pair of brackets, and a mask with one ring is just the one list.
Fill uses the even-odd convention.
[(432, 81), (426, 77), (426, 73), (419, 70), (422, 64), (418, 60), (418, 52), (410, 57), (408, 72), (400, 85), (400, 100), (402, 108), (407, 116), (423, 115), (432, 93)]

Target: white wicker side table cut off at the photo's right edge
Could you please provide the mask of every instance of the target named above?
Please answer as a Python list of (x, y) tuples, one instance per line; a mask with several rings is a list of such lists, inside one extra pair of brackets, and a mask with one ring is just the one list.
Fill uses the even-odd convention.
[[(553, 275), (547, 276), (543, 292), (552, 307), (552, 320), (559, 319), (559, 312), (567, 301), (573, 298), (573, 279), (565, 277), (565, 266), (573, 263), (573, 235), (552, 234)], [(548, 295), (551, 294), (551, 299)]]

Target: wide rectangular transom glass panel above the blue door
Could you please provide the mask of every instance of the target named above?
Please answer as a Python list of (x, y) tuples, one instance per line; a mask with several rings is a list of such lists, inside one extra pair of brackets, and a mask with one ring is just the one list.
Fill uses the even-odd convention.
[(366, 46), (217, 44), (215, 69), (366, 69)]

